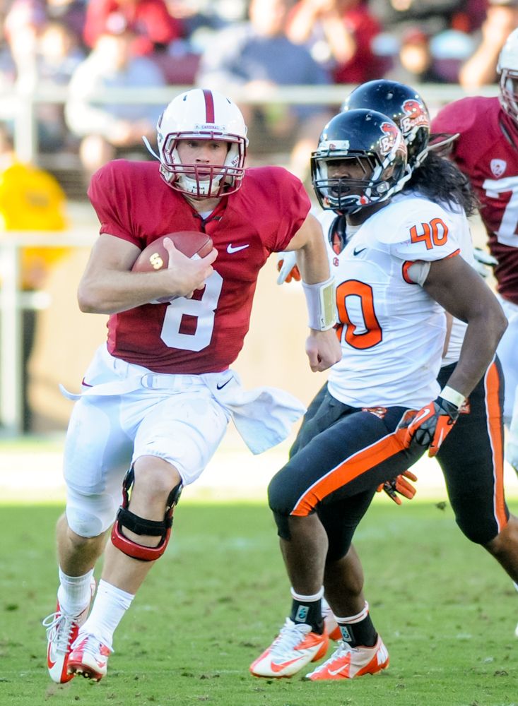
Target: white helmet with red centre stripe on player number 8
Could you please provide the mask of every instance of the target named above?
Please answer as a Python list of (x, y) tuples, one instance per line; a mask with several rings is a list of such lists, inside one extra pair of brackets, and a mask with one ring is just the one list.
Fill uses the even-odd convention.
[[(227, 196), (245, 176), (247, 126), (240, 109), (213, 90), (193, 88), (174, 98), (158, 119), (160, 174), (172, 189), (196, 198)], [(182, 164), (178, 140), (222, 140), (229, 143), (225, 164)]]

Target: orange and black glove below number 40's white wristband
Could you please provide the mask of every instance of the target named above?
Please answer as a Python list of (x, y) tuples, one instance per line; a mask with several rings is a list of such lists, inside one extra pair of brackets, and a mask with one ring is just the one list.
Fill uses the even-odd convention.
[(418, 443), (428, 447), (429, 456), (435, 456), (459, 419), (459, 413), (459, 408), (452, 402), (437, 397), (435, 402), (425, 405), (410, 421), (401, 425), (406, 426), (404, 445), (408, 448), (411, 443)]

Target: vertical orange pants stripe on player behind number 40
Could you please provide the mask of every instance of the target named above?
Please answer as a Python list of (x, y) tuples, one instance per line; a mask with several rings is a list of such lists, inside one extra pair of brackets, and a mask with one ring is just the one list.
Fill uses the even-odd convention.
[(504, 497), (504, 453), (502, 448), (502, 412), (498, 393), (500, 391), (500, 378), (495, 363), (493, 362), (484, 380), (485, 407), (488, 411), (488, 433), (493, 450), (493, 477), (495, 478), (495, 492), (493, 504), (495, 508), (495, 520), (498, 524), (498, 532), (502, 532), (507, 525), (505, 516)]

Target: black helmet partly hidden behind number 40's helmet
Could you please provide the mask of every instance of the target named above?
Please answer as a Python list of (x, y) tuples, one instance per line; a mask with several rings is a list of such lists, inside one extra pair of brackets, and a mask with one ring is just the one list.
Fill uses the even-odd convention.
[(404, 83), (379, 79), (355, 88), (342, 110), (368, 108), (387, 115), (401, 130), (408, 150), (407, 162), (414, 169), (425, 160), (430, 139), (430, 113), (416, 90)]

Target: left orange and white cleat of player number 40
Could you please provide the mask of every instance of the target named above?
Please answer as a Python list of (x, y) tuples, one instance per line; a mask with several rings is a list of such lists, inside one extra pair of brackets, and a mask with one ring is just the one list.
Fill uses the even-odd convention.
[(313, 633), (305, 623), (293, 623), (286, 618), (281, 633), (261, 657), (250, 665), (254, 676), (281, 678), (293, 676), (310, 662), (317, 662), (327, 652), (329, 637)]

